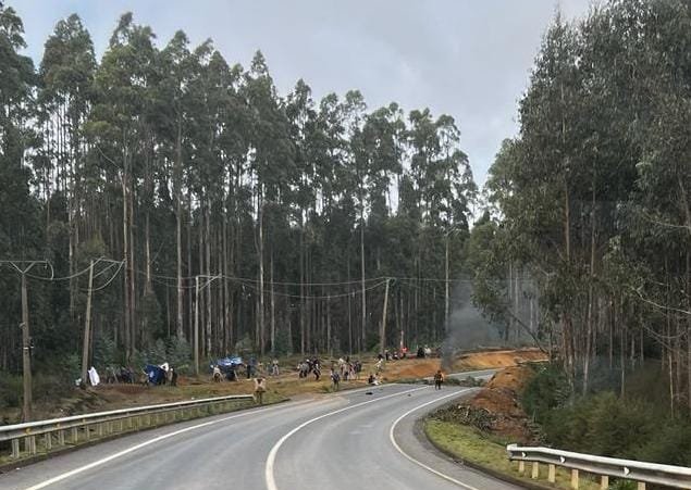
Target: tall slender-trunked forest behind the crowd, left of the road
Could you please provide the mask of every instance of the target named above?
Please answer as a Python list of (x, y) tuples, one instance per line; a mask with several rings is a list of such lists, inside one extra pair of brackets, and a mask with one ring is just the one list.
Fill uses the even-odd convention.
[(97, 61), (60, 21), (35, 67), (0, 9), (0, 369), (22, 276), (36, 362), (81, 355), (87, 307), (101, 365), (195, 330), (202, 359), (442, 341), (477, 196), (453, 117), (280, 95), (259, 51), (114, 24)]

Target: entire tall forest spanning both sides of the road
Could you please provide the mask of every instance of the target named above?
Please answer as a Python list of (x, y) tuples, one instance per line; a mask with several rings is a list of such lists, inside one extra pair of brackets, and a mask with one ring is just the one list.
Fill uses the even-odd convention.
[(688, 414), (690, 9), (557, 14), (480, 191), (448, 115), (280, 95), (260, 52), (159, 45), (128, 13), (100, 62), (59, 22), (36, 68), (3, 8), (0, 368), (21, 370), (29, 266), (42, 359), (81, 353), (89, 291), (95, 355), (125, 362), (196, 329), (202, 356), (439, 343), (469, 290), (569, 393), (626, 395), (654, 366), (657, 402)]

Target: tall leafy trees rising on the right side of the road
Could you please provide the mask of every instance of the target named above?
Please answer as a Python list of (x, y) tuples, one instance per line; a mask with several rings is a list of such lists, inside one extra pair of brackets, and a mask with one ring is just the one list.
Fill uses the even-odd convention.
[(489, 313), (521, 319), (511, 271), (536, 285), (540, 340), (576, 391), (609, 377), (624, 393), (656, 360), (673, 415), (691, 409), (690, 7), (556, 16), (468, 242)]

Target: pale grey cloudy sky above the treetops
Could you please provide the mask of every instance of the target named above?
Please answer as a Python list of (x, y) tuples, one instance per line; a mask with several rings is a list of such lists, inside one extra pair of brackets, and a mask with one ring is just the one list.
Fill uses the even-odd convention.
[(5, 0), (22, 16), (37, 64), (57, 21), (76, 12), (100, 55), (119, 16), (134, 12), (159, 45), (177, 29), (212, 38), (229, 63), (261, 49), (285, 95), (298, 78), (316, 99), (362, 91), (370, 108), (398, 102), (454, 116), (479, 184), (501, 141), (556, 9), (572, 18), (588, 0)]

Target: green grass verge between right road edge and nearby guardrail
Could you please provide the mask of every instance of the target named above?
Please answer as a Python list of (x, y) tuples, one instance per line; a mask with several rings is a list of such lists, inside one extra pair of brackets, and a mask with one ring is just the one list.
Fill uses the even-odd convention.
[[(570, 489), (570, 472), (567, 469), (557, 467), (556, 483), (547, 482), (547, 466), (544, 464), (540, 465), (538, 480), (530, 478), (531, 463), (526, 463), (526, 476), (521, 476), (518, 473), (518, 463), (508, 461), (506, 447), (473, 427), (429, 418), (424, 423), (424, 432), (432, 442), (458, 460), (545, 488)], [(595, 490), (600, 486), (581, 473), (580, 488)]]

